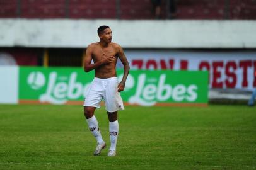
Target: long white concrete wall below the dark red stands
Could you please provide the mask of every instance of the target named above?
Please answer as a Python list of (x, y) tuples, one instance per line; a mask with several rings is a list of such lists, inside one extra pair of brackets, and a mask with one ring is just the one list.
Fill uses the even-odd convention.
[(123, 48), (256, 48), (253, 20), (0, 20), (0, 47), (84, 48), (112, 28)]

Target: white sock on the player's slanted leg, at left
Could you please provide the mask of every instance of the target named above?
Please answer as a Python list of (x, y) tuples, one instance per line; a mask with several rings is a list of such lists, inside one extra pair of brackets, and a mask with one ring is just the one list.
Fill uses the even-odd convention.
[(97, 142), (104, 142), (102, 135), (100, 134), (100, 129), (98, 128), (98, 121), (96, 120), (96, 117), (93, 115), (91, 118), (86, 119), (86, 122), (88, 123), (88, 127), (93, 136), (96, 138)]

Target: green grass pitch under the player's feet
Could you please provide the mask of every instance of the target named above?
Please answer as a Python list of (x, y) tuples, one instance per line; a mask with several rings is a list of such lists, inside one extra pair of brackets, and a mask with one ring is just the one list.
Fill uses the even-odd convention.
[(117, 156), (95, 147), (82, 106), (0, 105), (0, 169), (256, 169), (256, 109), (127, 106)]

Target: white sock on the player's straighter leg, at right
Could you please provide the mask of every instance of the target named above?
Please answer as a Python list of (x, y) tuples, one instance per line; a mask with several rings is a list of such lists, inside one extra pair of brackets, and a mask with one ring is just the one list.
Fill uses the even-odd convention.
[(111, 146), (109, 150), (115, 150), (117, 146), (117, 136), (119, 133), (119, 124), (118, 121), (109, 122), (109, 133), (110, 133), (110, 142)]

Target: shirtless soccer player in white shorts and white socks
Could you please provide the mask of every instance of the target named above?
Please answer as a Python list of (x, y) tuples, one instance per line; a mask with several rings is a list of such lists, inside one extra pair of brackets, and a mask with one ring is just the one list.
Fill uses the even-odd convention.
[[(94, 116), (95, 109), (100, 106), (100, 101), (104, 99), (109, 120), (110, 149), (108, 156), (115, 156), (117, 136), (119, 135), (119, 123), (117, 121), (117, 110), (124, 110), (124, 104), (120, 96), (120, 91), (124, 90), (125, 81), (129, 74), (129, 63), (120, 45), (113, 43), (112, 31), (108, 26), (98, 28), (100, 42), (92, 43), (86, 50), (84, 59), (84, 71), (89, 72), (95, 69), (95, 78), (86, 93), (84, 100), (84, 116), (89, 129), (97, 140), (95, 156), (98, 156), (102, 149), (106, 147), (102, 139), (98, 122)], [(124, 65), (124, 76), (122, 81), (117, 81), (117, 58)], [(91, 64), (93, 60), (93, 64)]]

